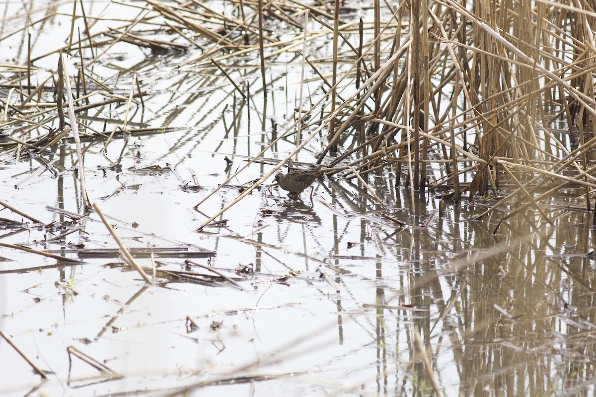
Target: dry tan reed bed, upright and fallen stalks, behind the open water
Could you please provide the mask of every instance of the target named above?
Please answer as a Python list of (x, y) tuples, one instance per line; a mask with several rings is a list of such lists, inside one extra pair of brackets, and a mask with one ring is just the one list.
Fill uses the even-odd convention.
[[(302, 64), (301, 87), (321, 87), (309, 98), (300, 89), (296, 116), (277, 137), (293, 139), (295, 151), (201, 227), (316, 136), (325, 136), (316, 162), (329, 168), (328, 175), (364, 181), (369, 173), (392, 170), (396, 185), (412, 192), (445, 190), (443, 197), (456, 201), (499, 198), (480, 218), (515, 202), (510, 215), (531, 207), (550, 222), (542, 207), (572, 187), (581, 187), (574, 190), (576, 203), (593, 211), (596, 13), (586, 4), (375, 1), (371, 10), (356, 10), (293, 0), (224, 5), (147, 0), (126, 4), (136, 9), (136, 17), (109, 20), (116, 26), (106, 29), (95, 29), (105, 20), (76, 5), (65, 45), (28, 56), (26, 65), (0, 65), (0, 149), (5, 155), (43, 154), (60, 140), (75, 139), (76, 130), (80, 139), (107, 142), (118, 135), (163, 132), (127, 124), (128, 109), (142, 107), (148, 95), (138, 80), (126, 94), (117, 94), (122, 92), (119, 80), (94, 76), (93, 65), (116, 43), (127, 42), (154, 54), (193, 49), (195, 56), (179, 64), (180, 70), (212, 68), (246, 101), (256, 93), (266, 98), (276, 78), (272, 70), (284, 59)], [(75, 20), (83, 20), (83, 31), (75, 31)], [(22, 30), (4, 33), (0, 40)], [(149, 38), (156, 32), (169, 39)], [(31, 83), (40, 71), (36, 62), (60, 52), (78, 60), (70, 106), (58, 65), (41, 83)], [(234, 68), (252, 70), (260, 79), (250, 87), (234, 82), (228, 73)], [(314, 77), (307, 79), (305, 70)], [(126, 104), (127, 111), (112, 130), (73, 118), (73, 112), (100, 114), (117, 103)], [(70, 125), (64, 108), (70, 108)], [(382, 198), (377, 201), (383, 205)]]

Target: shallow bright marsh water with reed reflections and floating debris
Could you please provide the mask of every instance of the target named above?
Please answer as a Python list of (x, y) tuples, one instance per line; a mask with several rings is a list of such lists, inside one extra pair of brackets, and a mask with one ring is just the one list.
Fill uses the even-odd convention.
[[(67, 40), (72, 3), (4, 6), (5, 82), (17, 74), (9, 64), (26, 64), (18, 27), (52, 15), (30, 29), (38, 84), (57, 67), (58, 54), (44, 55)], [(85, 6), (107, 12), (105, 26), (138, 12)], [(324, 57), (329, 46), (322, 35), (312, 51)], [(128, 97), (134, 69), (144, 104), (77, 115), (107, 135), (125, 114), (128, 127), (160, 129), (82, 142), (91, 203), (153, 283), (119, 256), (95, 211), (82, 217), (73, 142), (2, 152), (0, 199), (42, 224), (5, 209), (0, 242), (76, 261), (0, 248), (0, 330), (47, 374), (0, 339), (0, 395), (426, 396), (433, 378), (446, 396), (594, 395), (589, 212), (560, 195), (544, 207), (552, 224), (530, 208), (493, 233), (516, 204), (474, 220), (496, 199), (449, 201), (396, 185), (384, 167), (365, 180), (384, 205), (341, 172), (297, 200), (271, 178), (197, 231), (296, 146), (284, 137), (194, 209), (294, 122), (302, 66), (287, 53), (269, 60), (265, 97), (256, 58), (234, 60), (228, 73), (250, 87), (245, 100), (213, 65), (183, 65), (197, 54), (116, 43), (89, 73)], [(308, 90), (315, 97), (321, 82)], [(4, 104), (9, 90), (0, 92)], [(314, 163), (326, 139), (309, 142), (297, 164)], [(340, 154), (355, 144), (346, 137)]]

